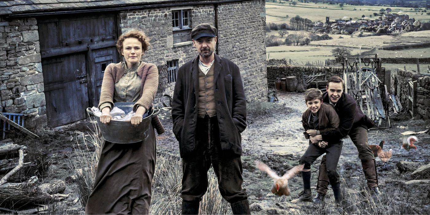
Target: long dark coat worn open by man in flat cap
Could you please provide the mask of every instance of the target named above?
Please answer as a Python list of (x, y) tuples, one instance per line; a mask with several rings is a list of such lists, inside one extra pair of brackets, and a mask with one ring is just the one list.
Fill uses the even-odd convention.
[[(242, 154), (240, 133), (246, 128), (246, 97), (239, 67), (215, 54), (214, 83), (216, 117), (221, 149), (226, 154)], [(172, 101), (173, 133), (179, 141), (181, 157), (196, 149), (195, 131), (199, 100), (199, 56), (178, 69)]]

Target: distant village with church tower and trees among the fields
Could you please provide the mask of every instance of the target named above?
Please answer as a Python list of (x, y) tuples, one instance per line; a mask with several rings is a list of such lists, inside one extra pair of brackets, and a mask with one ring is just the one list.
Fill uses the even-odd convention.
[(394, 31), (408, 32), (415, 31), (419, 25), (414, 25), (415, 18), (409, 18), (407, 14), (386, 13), (376, 20), (335, 20), (330, 21), (330, 17), (326, 16), (326, 22), (321, 21), (313, 24), (313, 31), (330, 32), (337, 30), (342, 34), (352, 34), (353, 32), (362, 30), (375, 31), (376, 33), (390, 34)]

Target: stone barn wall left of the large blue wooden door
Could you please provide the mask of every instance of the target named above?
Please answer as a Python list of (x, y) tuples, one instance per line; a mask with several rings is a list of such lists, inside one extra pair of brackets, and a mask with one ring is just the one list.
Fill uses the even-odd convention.
[(26, 121), (28, 128), (46, 126), (46, 101), (35, 18), (1, 18), (0, 94), (2, 111), (36, 116)]

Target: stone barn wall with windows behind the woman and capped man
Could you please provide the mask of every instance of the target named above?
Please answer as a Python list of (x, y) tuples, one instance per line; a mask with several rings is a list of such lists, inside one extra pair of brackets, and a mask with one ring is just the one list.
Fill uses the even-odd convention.
[[(218, 55), (236, 63), (242, 75), (248, 101), (263, 101), (267, 96), (267, 78), (264, 44), (264, 1), (224, 3), (217, 7), (202, 4), (187, 7), (164, 7), (120, 12), (121, 31), (138, 28), (151, 38), (151, 47), (143, 60), (157, 66), (178, 60), (179, 66), (197, 56), (191, 39), (173, 43), (172, 10), (191, 9), (192, 26), (206, 22), (218, 26)], [(215, 23), (215, 10), (218, 23)], [(234, 11), (234, 13), (232, 13)], [(175, 83), (167, 83), (167, 74), (160, 74), (160, 87), (154, 104), (161, 105), (163, 94), (172, 95)]]

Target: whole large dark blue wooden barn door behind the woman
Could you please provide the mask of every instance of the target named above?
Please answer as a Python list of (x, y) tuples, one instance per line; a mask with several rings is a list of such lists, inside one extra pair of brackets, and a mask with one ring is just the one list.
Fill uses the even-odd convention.
[(86, 118), (98, 106), (106, 66), (119, 61), (117, 15), (109, 13), (38, 18), (48, 125)]

